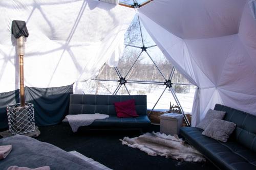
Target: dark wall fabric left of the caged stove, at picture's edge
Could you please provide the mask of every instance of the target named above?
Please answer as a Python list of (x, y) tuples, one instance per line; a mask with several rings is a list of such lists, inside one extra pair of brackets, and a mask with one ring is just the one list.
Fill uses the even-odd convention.
[(0, 129), (8, 128), (7, 105), (19, 103), (19, 90), (0, 93)]

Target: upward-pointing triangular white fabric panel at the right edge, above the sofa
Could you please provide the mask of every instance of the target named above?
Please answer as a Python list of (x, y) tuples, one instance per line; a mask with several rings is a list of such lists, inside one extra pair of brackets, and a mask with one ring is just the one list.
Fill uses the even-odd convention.
[(256, 66), (239, 38), (234, 42), (224, 63), (217, 86), (234, 92), (256, 95)]

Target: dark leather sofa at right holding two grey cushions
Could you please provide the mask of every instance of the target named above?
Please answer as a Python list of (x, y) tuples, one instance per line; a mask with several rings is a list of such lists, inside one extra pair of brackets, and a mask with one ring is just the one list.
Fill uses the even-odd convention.
[(181, 128), (180, 134), (219, 169), (256, 169), (256, 116), (220, 104), (214, 110), (225, 111), (224, 120), (237, 124), (227, 142), (195, 127)]

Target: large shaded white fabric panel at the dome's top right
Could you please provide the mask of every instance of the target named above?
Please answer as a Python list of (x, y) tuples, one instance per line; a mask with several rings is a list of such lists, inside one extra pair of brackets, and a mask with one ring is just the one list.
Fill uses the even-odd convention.
[(245, 3), (246, 0), (160, 0), (139, 11), (180, 38), (201, 39), (237, 34)]

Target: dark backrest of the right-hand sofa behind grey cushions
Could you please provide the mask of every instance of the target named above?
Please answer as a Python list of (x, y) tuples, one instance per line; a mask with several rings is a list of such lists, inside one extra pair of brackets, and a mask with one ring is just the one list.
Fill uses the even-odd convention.
[(216, 104), (214, 110), (225, 111), (224, 120), (237, 124), (230, 136), (231, 140), (236, 140), (256, 152), (256, 116), (220, 104)]

